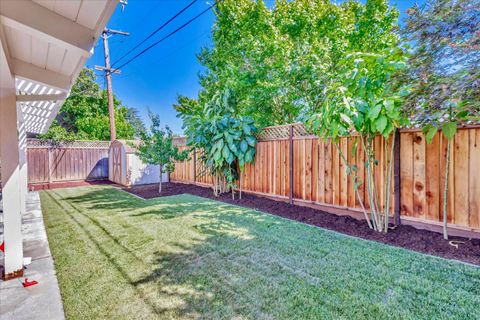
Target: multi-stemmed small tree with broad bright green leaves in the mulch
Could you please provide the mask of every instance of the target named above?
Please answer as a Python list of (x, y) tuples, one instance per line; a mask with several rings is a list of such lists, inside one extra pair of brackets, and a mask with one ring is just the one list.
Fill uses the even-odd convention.
[[(325, 90), (321, 108), (313, 110), (306, 118), (311, 131), (331, 140), (337, 148), (347, 174), (352, 176), (368, 226), (378, 232), (388, 231), (395, 131), (408, 121), (400, 108), (402, 97), (408, 91), (390, 81), (404, 67), (403, 52), (395, 48), (381, 53), (356, 52), (346, 55), (339, 63), (337, 75), (332, 76)], [(352, 155), (356, 154), (357, 145), (362, 147), (365, 154), (363, 165), (366, 181), (361, 180), (357, 166), (347, 161), (348, 155), (339, 147), (340, 138), (352, 133), (357, 134)], [(383, 185), (375, 183), (375, 168), (379, 161), (375, 158), (374, 140), (378, 135), (385, 140), (383, 153), (386, 165), (378, 170), (386, 177)], [(366, 186), (368, 207), (363, 203), (359, 191), (361, 184)], [(383, 188), (383, 192), (380, 188)]]

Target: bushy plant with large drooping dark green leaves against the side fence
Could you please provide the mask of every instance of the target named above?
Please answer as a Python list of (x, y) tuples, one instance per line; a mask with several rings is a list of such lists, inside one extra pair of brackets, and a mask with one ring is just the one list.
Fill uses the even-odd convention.
[(257, 128), (253, 119), (234, 115), (237, 99), (228, 90), (214, 95), (203, 107), (195, 100), (181, 99), (182, 104), (176, 108), (183, 120), (187, 145), (201, 150), (199, 160), (206, 168), (201, 174), (214, 177), (215, 196), (231, 190), (234, 197), (236, 181), (240, 180), (241, 197), (241, 172), (255, 158)]

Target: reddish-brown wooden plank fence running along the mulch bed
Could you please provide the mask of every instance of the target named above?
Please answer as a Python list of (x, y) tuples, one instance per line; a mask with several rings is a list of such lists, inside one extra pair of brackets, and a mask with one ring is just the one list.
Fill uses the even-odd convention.
[[(431, 144), (427, 144), (417, 130), (404, 130), (399, 136), (392, 180), (392, 212), (396, 211), (404, 220), (440, 225), (446, 140), (437, 134)], [(358, 147), (352, 155), (352, 146), (353, 138), (341, 139), (342, 153), (348, 154), (349, 163), (357, 164), (358, 175), (365, 181), (363, 150)], [(386, 165), (383, 146), (383, 138), (378, 137), (375, 141), (379, 161), (375, 175), (377, 186), (386, 182), (379, 174), (379, 168)], [(463, 230), (480, 231), (480, 128), (459, 129), (451, 152), (448, 221)], [(199, 174), (202, 169), (197, 158), (198, 155), (192, 155), (189, 161), (177, 163), (171, 180), (211, 185), (211, 177)], [(346, 175), (335, 146), (309, 135), (299, 124), (265, 128), (259, 136), (255, 164), (245, 167), (241, 180), (242, 190), (251, 193), (293, 203), (350, 211), (360, 209), (352, 179)], [(365, 200), (364, 184), (360, 190)], [(382, 194), (380, 199), (383, 202)], [(368, 206), (368, 201), (364, 204)]]

